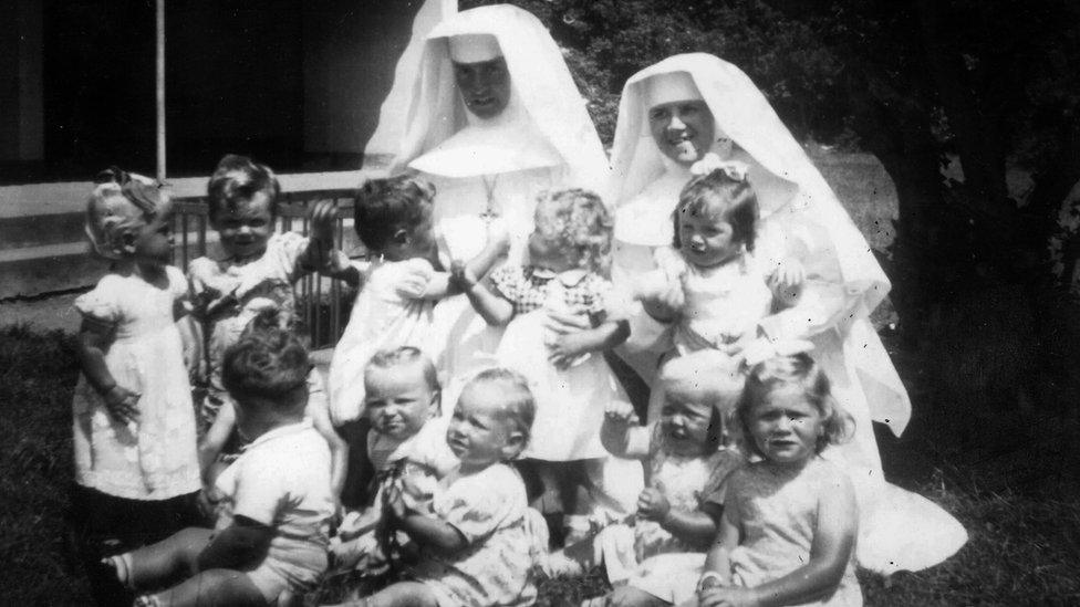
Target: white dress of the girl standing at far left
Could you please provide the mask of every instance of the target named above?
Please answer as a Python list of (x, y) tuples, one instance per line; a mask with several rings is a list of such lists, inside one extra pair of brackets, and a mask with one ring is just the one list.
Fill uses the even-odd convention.
[(79, 376), (74, 415), (75, 482), (128, 500), (167, 500), (198, 491), (195, 409), (173, 311), (187, 295), (184, 274), (166, 266), (158, 289), (137, 275), (106, 274), (75, 300), (83, 316), (115, 327), (105, 365), (138, 393), (138, 419), (115, 421)]

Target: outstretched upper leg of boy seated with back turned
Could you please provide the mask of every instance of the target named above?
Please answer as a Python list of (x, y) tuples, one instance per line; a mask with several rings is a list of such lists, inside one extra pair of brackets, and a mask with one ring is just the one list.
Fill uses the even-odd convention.
[[(199, 553), (210, 543), (212, 530), (188, 527), (162, 540), (123, 555), (129, 558), (127, 579), (121, 579), (133, 588), (156, 586), (160, 588), (175, 580), (198, 573)], [(117, 569), (117, 574), (121, 572)]]

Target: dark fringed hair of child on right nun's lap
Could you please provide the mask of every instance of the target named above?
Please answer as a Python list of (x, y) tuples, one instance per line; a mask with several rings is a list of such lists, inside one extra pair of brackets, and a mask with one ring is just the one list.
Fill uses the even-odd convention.
[(758, 197), (747, 179), (736, 179), (723, 169), (699, 175), (678, 195), (678, 205), (672, 213), (673, 245), (676, 250), (682, 248), (678, 237), (681, 217), (709, 216), (730, 223), (731, 239), (746, 244), (746, 250), (752, 252), (758, 212)]

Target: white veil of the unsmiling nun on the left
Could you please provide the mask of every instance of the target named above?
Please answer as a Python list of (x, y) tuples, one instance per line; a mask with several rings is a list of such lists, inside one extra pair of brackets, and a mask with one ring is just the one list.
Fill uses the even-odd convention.
[[(466, 34), (496, 38), (510, 74), (511, 103), (519, 105), (511, 109), (515, 118), (529, 119), (525, 128), (540, 134), (558, 153), (569, 171), (567, 185), (600, 191), (606, 180), (608, 160), (585, 108), (585, 100), (578, 91), (559, 46), (540, 20), (508, 4), (459, 12), (430, 31), (408, 107), (405, 136), (391, 165), (391, 174), (404, 171), (411, 163), (475, 122), (468, 119), (457, 92), (449, 56), (448, 39)], [(521, 169), (536, 166), (537, 154), (523, 158)], [(485, 171), (481, 163), (475, 166), (477, 175), (512, 168)]]

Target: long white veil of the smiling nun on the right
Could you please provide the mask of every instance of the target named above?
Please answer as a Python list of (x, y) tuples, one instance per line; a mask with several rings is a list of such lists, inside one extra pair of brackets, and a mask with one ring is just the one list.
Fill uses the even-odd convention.
[[(671, 56), (631, 76), (619, 105), (609, 197), (616, 206), (623, 203), (665, 172), (665, 157), (651, 138), (648, 107), (643, 100), (645, 81), (671, 72), (689, 74), (717, 129), (749, 156), (750, 182), (758, 181), (755, 188), (762, 216), (780, 226), (810, 224), (824, 232), (829, 242), (819, 250), (834, 254), (850, 302), (849, 320), (838, 327), (844, 349), (854, 357), (871, 416), (899, 436), (911, 418), (911, 401), (868, 320), (889, 293), (889, 279), (824, 178), (741, 70), (707, 53), (689, 53)], [(762, 195), (777, 189), (777, 179), (797, 186), (795, 198)], [(674, 208), (674, 201), (672, 205)]]

